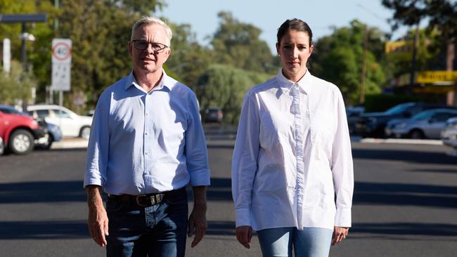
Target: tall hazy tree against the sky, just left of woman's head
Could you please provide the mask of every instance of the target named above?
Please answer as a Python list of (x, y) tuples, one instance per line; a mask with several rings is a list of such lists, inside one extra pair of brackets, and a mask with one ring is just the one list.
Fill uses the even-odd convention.
[(229, 12), (218, 13), (219, 28), (211, 45), (214, 60), (253, 72), (276, 72), (273, 56), (265, 41), (259, 39), (262, 32), (254, 25), (240, 22)]

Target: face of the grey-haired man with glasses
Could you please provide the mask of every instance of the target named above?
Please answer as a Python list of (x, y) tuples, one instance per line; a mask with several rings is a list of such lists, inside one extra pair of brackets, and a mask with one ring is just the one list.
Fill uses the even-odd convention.
[[(140, 41), (139, 41), (140, 40)], [(135, 43), (151, 43), (146, 49), (140, 50)], [(129, 53), (137, 72), (153, 73), (162, 70), (163, 63), (172, 52), (169, 47), (160, 51), (154, 50), (153, 46), (166, 46), (167, 36), (165, 29), (157, 24), (146, 24), (138, 27), (134, 32), (132, 41), (129, 42)]]

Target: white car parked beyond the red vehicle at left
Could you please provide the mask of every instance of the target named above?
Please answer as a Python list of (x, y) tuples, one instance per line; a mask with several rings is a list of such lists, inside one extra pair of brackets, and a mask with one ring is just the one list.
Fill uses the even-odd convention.
[(27, 113), (34, 118), (43, 118), (46, 122), (58, 125), (64, 137), (89, 139), (92, 117), (75, 114), (59, 105), (29, 105)]

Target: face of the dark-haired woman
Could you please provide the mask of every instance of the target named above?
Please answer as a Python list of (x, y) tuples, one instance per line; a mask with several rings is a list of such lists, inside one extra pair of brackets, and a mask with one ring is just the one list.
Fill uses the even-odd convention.
[(309, 35), (295, 29), (284, 34), (276, 51), (281, 56), (283, 74), (291, 81), (299, 81), (307, 72), (307, 61), (314, 46), (309, 45)]

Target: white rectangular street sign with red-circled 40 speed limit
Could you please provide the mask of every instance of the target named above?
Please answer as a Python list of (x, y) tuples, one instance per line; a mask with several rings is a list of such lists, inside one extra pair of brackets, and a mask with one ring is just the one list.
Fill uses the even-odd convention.
[(70, 91), (72, 41), (53, 39), (51, 89)]

